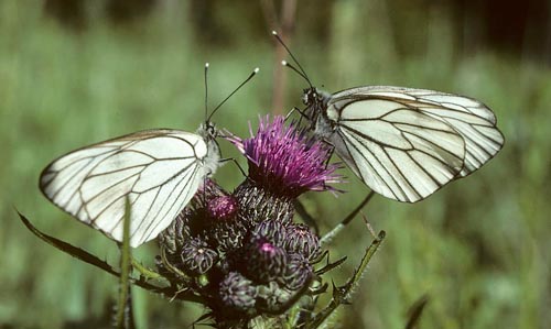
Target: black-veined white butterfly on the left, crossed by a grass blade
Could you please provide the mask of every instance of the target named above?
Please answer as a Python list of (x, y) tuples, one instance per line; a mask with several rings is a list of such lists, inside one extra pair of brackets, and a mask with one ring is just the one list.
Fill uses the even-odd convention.
[(40, 189), (57, 207), (119, 242), (128, 197), (130, 245), (154, 239), (219, 166), (210, 118), (257, 73), (196, 133), (154, 129), (85, 146), (53, 161), (40, 176)]

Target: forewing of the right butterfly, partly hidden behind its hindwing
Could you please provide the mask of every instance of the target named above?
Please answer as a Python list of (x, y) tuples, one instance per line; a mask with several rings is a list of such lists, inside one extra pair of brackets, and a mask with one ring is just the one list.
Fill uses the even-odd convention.
[(504, 145), (504, 136), (496, 127), (494, 112), (484, 103), (468, 97), (426, 89), (369, 86), (337, 92), (329, 105), (350, 98), (388, 99), (450, 124), (465, 141), (464, 165), (458, 177), (478, 169)]

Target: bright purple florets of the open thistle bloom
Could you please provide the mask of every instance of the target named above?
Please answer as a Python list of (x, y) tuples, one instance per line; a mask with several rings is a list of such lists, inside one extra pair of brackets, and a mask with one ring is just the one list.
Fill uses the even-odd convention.
[[(252, 129), (251, 129), (252, 135)], [(337, 164), (326, 165), (329, 147), (294, 124), (284, 125), (284, 118), (260, 118), (256, 135), (229, 140), (247, 156), (249, 178), (281, 196), (298, 197), (307, 190), (333, 189), (328, 183), (341, 182)]]

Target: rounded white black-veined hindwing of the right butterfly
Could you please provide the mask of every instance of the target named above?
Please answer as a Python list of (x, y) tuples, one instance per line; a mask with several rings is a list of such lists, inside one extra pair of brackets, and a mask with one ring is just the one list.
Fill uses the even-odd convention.
[(463, 168), (465, 142), (450, 124), (389, 99), (332, 101), (329, 141), (375, 191), (399, 201), (424, 199)]

